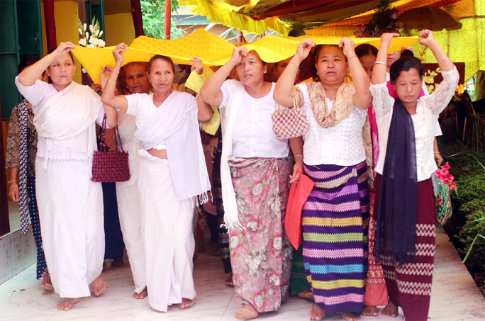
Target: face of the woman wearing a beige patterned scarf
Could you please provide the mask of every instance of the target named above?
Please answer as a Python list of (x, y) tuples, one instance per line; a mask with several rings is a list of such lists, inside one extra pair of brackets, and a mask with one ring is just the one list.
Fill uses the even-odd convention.
[(347, 62), (339, 47), (325, 46), (320, 49), (315, 67), (323, 85), (342, 84), (347, 76)]

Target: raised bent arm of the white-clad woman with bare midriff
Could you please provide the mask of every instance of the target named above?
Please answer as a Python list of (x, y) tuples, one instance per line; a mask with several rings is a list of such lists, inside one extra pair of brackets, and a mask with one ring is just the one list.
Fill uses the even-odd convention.
[[(111, 108), (119, 108), (119, 111), (126, 113), (128, 111), (128, 99), (125, 96), (115, 96), (114, 91), (116, 88), (116, 79), (118, 79), (118, 74), (120, 74), (120, 68), (123, 64), (124, 56), (123, 52), (126, 52), (127, 46), (124, 43), (120, 43), (113, 50), (113, 57), (115, 58), (115, 65), (111, 72), (103, 70), (101, 72), (101, 86), (103, 86), (103, 94), (101, 95), (101, 101), (104, 106)], [(104, 80), (106, 79), (106, 81)], [(105, 108), (105, 111), (107, 108)], [(108, 113), (106, 113), (108, 117)]]

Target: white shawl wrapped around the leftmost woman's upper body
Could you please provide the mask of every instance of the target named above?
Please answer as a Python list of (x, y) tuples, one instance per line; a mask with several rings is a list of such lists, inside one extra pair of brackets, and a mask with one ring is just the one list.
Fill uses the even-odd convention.
[[(89, 86), (74, 81), (62, 91), (51, 96), (35, 115), (33, 123), (40, 137), (46, 138), (45, 161), (47, 168), (50, 151), (54, 145), (79, 150), (92, 162), (96, 150), (96, 126), (101, 104), (93, 103), (96, 94)], [(82, 135), (87, 130), (87, 135)]]

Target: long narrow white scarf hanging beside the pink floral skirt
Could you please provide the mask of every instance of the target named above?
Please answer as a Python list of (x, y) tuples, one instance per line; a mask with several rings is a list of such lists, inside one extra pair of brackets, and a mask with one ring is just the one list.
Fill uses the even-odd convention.
[(223, 150), (221, 154), (221, 185), (224, 202), (224, 223), (228, 228), (244, 229), (238, 215), (233, 180), (230, 175), (228, 160), (233, 154), (233, 129), (243, 102), (244, 85), (239, 81), (225, 81), (228, 89), (228, 104), (223, 117)]

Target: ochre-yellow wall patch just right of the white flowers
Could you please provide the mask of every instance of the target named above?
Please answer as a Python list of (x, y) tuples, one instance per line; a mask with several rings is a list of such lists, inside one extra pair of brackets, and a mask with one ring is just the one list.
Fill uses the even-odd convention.
[(135, 39), (135, 27), (131, 13), (104, 15), (104, 34), (106, 47), (126, 43), (130, 45)]

